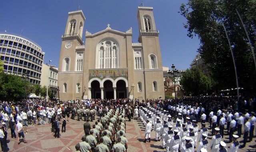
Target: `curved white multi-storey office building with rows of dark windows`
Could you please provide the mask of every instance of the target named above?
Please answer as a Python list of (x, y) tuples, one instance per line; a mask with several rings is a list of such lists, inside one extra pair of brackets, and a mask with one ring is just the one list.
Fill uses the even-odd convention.
[(23, 36), (0, 33), (0, 56), (4, 72), (26, 76), (30, 83), (40, 84), (44, 52), (38, 44)]

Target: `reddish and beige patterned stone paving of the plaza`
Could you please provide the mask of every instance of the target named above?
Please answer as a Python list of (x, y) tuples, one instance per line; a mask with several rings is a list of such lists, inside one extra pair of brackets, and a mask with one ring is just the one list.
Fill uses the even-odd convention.
[[(96, 117), (97, 120), (97, 117)], [(90, 122), (90, 124), (94, 124)], [(27, 127), (28, 133), (25, 134), (28, 143), (21, 142), (17, 144), (17, 138), (11, 138), (10, 129), (8, 129), (8, 148), (10, 152), (72, 152), (75, 151), (75, 145), (81, 142), (84, 135), (83, 128), (84, 121), (70, 120), (66, 124), (66, 132), (60, 133), (60, 138), (54, 138), (54, 133), (51, 132), (51, 124), (45, 125), (29, 125)], [(201, 124), (198, 123), (199, 127)], [(209, 126), (209, 124), (206, 124)], [(126, 138), (128, 139), (127, 152), (164, 152), (161, 149), (161, 141), (155, 142), (155, 132), (151, 132), (151, 142), (143, 142), (144, 138), (144, 125), (138, 120), (132, 119), (131, 122), (126, 121)], [(226, 131), (226, 130), (225, 130)], [(210, 130), (209, 130), (210, 134)], [(241, 136), (242, 137), (242, 136)], [(208, 136), (211, 140), (212, 136)], [(225, 135), (223, 140), (228, 142), (228, 136)], [(239, 138), (241, 143), (243, 138)], [(239, 152), (255, 152), (256, 151), (256, 138), (252, 142), (248, 142), (245, 148), (239, 149)], [(241, 144), (240, 144), (241, 145)], [(229, 147), (230, 144), (227, 144)], [(197, 147), (196, 147), (197, 150)], [(208, 149), (210, 152), (210, 149)]]

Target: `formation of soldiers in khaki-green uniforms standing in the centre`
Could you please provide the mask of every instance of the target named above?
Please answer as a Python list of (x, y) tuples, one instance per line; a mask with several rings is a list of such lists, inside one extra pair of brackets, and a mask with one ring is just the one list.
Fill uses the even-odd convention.
[(130, 108), (106, 107), (106, 113), (100, 116), (101, 118), (95, 121), (95, 124), (89, 123), (89, 116), (94, 120), (94, 109), (84, 109), (84, 132), (82, 142), (76, 145), (76, 148), (81, 152), (126, 152), (128, 148), (128, 140), (126, 138), (126, 117), (130, 112)]

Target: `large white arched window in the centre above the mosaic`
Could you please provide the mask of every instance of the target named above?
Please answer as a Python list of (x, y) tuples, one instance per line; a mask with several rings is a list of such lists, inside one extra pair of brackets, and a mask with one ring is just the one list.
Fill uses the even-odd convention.
[(103, 40), (97, 46), (96, 68), (118, 68), (118, 44), (113, 40)]

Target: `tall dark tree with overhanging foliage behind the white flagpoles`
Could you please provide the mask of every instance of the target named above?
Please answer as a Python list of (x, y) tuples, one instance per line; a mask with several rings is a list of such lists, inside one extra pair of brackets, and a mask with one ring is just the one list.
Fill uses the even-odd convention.
[[(234, 52), (238, 81), (241, 88), (255, 92), (256, 72), (246, 33), (236, 12), (241, 14), (252, 46), (256, 42), (255, 0), (188, 0), (180, 6), (180, 14), (187, 19), (184, 27), (188, 36), (200, 39), (198, 52), (209, 64), (218, 89), (236, 88), (236, 75), (227, 37), (226, 27)], [(254, 49), (255, 50), (255, 49)]]

